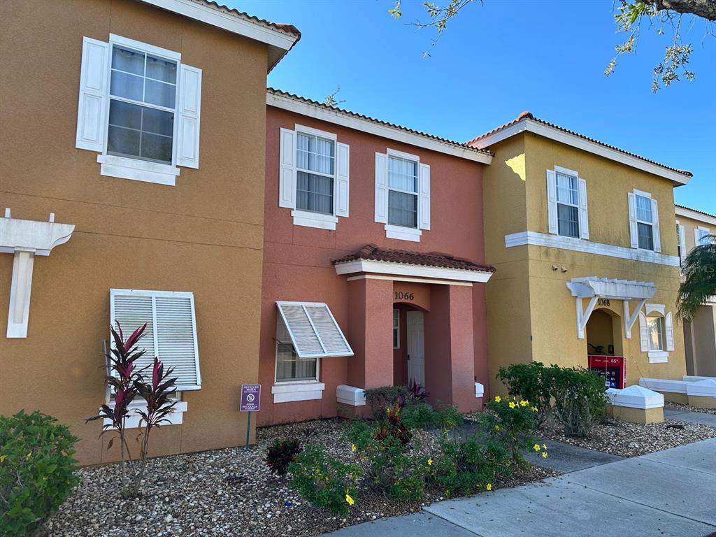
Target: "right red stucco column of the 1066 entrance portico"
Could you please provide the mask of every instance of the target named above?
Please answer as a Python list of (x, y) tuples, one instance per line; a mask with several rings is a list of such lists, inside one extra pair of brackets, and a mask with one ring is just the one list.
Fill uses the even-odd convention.
[(425, 387), (430, 402), (475, 410), (473, 288), (435, 285), (425, 315)]

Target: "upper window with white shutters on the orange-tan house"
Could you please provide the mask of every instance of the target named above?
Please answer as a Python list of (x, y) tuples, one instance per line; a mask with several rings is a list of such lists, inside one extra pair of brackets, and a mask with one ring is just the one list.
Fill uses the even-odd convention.
[(84, 37), (75, 146), (101, 153), (102, 175), (174, 185), (198, 168), (200, 102), (201, 69), (178, 52)]

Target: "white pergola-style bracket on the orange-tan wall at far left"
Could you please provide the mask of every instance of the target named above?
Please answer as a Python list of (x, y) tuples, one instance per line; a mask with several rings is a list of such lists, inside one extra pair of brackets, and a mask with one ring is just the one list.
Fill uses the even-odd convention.
[(0, 252), (14, 255), (7, 337), (27, 337), (35, 256), (49, 256), (52, 248), (69, 241), (72, 231), (72, 224), (55, 223), (54, 213), (49, 221), (39, 222), (11, 218), (10, 209), (5, 209), (0, 218)]

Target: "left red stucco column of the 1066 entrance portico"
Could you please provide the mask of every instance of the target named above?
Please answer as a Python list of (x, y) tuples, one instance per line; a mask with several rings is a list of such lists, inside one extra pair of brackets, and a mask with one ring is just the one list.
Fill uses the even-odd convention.
[(348, 384), (377, 388), (393, 384), (393, 282), (348, 282)]

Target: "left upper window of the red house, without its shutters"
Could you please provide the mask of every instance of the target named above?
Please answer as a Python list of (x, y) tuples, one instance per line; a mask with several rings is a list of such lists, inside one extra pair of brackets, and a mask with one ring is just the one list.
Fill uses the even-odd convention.
[(335, 142), (296, 133), (296, 208), (332, 215)]

